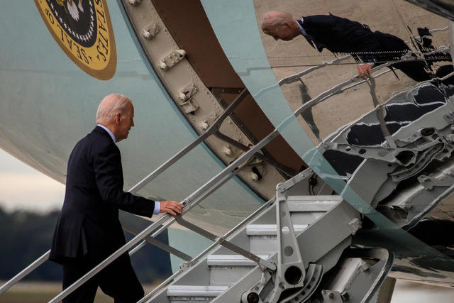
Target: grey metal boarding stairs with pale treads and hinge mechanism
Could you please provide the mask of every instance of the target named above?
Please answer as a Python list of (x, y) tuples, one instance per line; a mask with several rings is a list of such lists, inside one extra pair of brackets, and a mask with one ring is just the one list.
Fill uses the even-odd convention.
[[(248, 253), (235, 253), (228, 246), (217, 248), (178, 280), (141, 302), (372, 299), (372, 290), (380, 287), (392, 259), (383, 250), (355, 249), (358, 251), (343, 255), (360, 228), (360, 214), (340, 196), (303, 195), (311, 175), (306, 170), (279, 184), (273, 203), (227, 239)], [(373, 265), (367, 263), (370, 260)], [(328, 282), (328, 276), (336, 282)]]

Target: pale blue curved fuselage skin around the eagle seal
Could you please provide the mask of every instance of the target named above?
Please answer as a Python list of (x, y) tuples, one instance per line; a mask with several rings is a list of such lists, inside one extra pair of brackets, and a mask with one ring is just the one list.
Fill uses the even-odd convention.
[[(143, 64), (116, 1), (107, 4), (117, 66), (114, 77), (99, 80), (87, 75), (62, 51), (33, 2), (1, 1), (0, 22), (5, 32), (1, 35), (0, 143), (24, 162), (65, 182), (67, 158), (74, 144), (96, 125), (99, 101), (111, 92), (124, 94), (135, 104), (135, 128), (127, 141), (118, 143), (128, 189), (192, 142), (195, 134)], [(13, 13), (17, 11), (28, 21), (17, 18)], [(221, 169), (214, 155), (200, 146), (171, 173), (158, 177), (139, 193), (181, 200)], [(194, 214), (203, 212), (204, 223), (221, 232), (253, 211), (261, 200), (233, 180), (205, 203), (209, 208), (194, 209)], [(218, 214), (227, 205), (233, 207), (227, 207), (223, 220), (211, 216), (212, 211)]]

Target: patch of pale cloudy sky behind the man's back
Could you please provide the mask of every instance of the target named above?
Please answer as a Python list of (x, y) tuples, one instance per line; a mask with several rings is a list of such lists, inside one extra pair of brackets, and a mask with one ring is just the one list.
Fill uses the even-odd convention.
[(7, 211), (60, 209), (65, 185), (0, 149), (0, 206)]

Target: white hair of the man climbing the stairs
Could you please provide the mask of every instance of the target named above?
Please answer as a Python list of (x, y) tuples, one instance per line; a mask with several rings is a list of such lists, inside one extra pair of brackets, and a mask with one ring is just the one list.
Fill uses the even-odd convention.
[(98, 106), (96, 111), (96, 123), (108, 125), (115, 119), (116, 114), (123, 114), (128, 108), (128, 104), (132, 103), (131, 99), (122, 94), (109, 94)]

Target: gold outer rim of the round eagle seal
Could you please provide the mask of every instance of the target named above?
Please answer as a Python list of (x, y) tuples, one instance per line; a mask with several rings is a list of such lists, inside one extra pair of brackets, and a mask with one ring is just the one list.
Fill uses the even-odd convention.
[[(115, 44), (115, 38), (114, 38), (114, 28), (112, 28), (112, 23), (111, 23), (111, 16), (109, 13), (109, 8), (107, 7), (106, 0), (100, 0), (104, 9), (104, 15), (106, 16), (106, 25), (109, 28), (109, 51), (111, 52), (111, 55), (109, 56), (109, 62), (107, 62), (106, 67), (102, 70), (94, 70), (93, 68), (85, 65), (83, 62), (80, 62), (78, 58), (69, 50), (65, 44), (62, 43), (60, 40), (60, 37), (57, 36), (55, 31), (53, 31), (52, 26), (48, 22), (48, 18), (45, 16), (45, 12), (41, 9), (40, 7), (40, 1), (45, 1), (45, 0), (35, 0), (35, 5), (38, 8), (38, 11), (41, 15), (41, 18), (43, 18), (43, 21), (45, 23), (45, 26), (48, 28), (48, 31), (54, 38), (54, 40), (57, 42), (57, 44), (60, 46), (60, 48), (66, 53), (67, 57), (69, 57), (72, 62), (74, 62), (81, 70), (86, 72), (88, 75), (95, 77), (96, 79), (100, 80), (109, 80), (112, 77), (114, 77), (115, 72), (116, 72), (116, 44)], [(52, 12), (53, 14), (53, 12)], [(55, 16), (54, 16), (55, 18)], [(56, 18), (55, 18), (56, 20)], [(56, 20), (57, 21), (57, 20)], [(60, 22), (57, 21), (57, 23), (60, 24)], [(60, 24), (60, 26), (62, 26)], [(96, 40), (98, 39), (98, 32), (99, 28), (96, 27)], [(75, 43), (75, 41), (74, 41)]]

